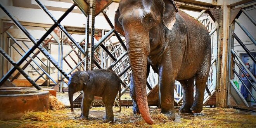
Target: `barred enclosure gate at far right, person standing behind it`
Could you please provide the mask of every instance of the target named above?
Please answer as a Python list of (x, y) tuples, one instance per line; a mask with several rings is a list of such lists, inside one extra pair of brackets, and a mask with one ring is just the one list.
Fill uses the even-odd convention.
[[(254, 75), (249, 71), (249, 69), (247, 69), (247, 67), (245, 66), (242, 59), (240, 59), (238, 53), (234, 50), (234, 39), (235, 39), (235, 40), (237, 40), (239, 45), (242, 47), (242, 49), (247, 53), (247, 55), (249, 55), (249, 57), (254, 62), (254, 64), (256, 63), (256, 58), (252, 55), (250, 50), (248, 50), (249, 48), (246, 47), (246, 45), (240, 40), (240, 38), (238, 37), (239, 35), (237, 35), (235, 33), (235, 24), (237, 24), (244, 31), (244, 33), (249, 37), (249, 39), (253, 43), (252, 44), (253, 47), (255, 48), (255, 46), (256, 46), (256, 42), (254, 39), (255, 37), (253, 37), (253, 35), (251, 35), (251, 33), (249, 33), (249, 31), (244, 27), (244, 24), (239, 21), (239, 17), (243, 13), (249, 19), (249, 21), (251, 21), (253, 23), (253, 25), (250, 27), (255, 28), (255, 26), (256, 26), (256, 21), (254, 19), (255, 17), (252, 17), (249, 14), (249, 12), (247, 12), (248, 9), (255, 10), (256, 9), (255, 2), (253, 4), (245, 5), (243, 7), (238, 7), (238, 8), (231, 10), (231, 19), (230, 19), (230, 48), (231, 48), (231, 50), (230, 50), (230, 57), (229, 57), (230, 63), (228, 65), (230, 67), (230, 69), (229, 69), (230, 86), (228, 89), (228, 106), (238, 107), (238, 108), (242, 108), (242, 109), (256, 110), (256, 104), (255, 104), (256, 88), (255, 88), (255, 84), (254, 84), (254, 83), (256, 83), (256, 79), (255, 79)], [(246, 72), (249, 74), (249, 76), (252, 78), (252, 80), (249, 80), (248, 76), (246, 76), (246, 72), (243, 69), (246, 70)], [(240, 71), (240, 73), (244, 74), (245, 78), (251, 85), (251, 87), (252, 87), (251, 90), (247, 86), (244, 86), (245, 83), (242, 80), (242, 77), (240, 76), (239, 71)], [(235, 80), (241, 81), (242, 86), (245, 87), (245, 89), (249, 93), (249, 96), (251, 96), (250, 100), (244, 99), (242, 93), (239, 90), (239, 85), (235, 84), (236, 83)]]

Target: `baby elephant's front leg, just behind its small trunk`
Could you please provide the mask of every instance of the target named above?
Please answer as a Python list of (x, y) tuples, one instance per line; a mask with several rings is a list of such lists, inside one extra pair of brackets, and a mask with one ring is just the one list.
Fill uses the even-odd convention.
[(82, 114), (80, 116), (80, 119), (88, 120), (89, 109), (91, 107), (93, 100), (94, 100), (93, 95), (86, 95), (85, 93), (83, 93)]

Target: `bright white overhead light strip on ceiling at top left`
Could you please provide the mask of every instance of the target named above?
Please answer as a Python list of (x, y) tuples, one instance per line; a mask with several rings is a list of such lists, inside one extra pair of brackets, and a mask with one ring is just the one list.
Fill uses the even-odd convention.
[[(66, 9), (69, 9), (73, 5), (73, 3), (56, 2), (56, 1), (50, 1), (50, 0), (40, 0), (40, 3), (42, 3), (45, 6), (59, 7), (59, 8), (66, 8)], [(38, 5), (35, 0), (31, 0), (31, 4)], [(77, 6), (74, 7), (74, 9), (77, 9)]]

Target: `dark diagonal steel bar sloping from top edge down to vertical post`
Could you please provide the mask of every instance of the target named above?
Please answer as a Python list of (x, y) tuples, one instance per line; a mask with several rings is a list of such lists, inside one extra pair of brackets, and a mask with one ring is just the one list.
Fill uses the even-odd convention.
[[(38, 5), (45, 11), (45, 13), (52, 19), (52, 21), (54, 21), (55, 24), (57, 24), (57, 26), (59, 26), (59, 28), (61, 29), (61, 31), (71, 40), (71, 42), (73, 42), (73, 44), (78, 48), (78, 50), (80, 50), (80, 52), (85, 55), (85, 50), (83, 50), (83, 48), (78, 45), (78, 43), (76, 43), (76, 41), (69, 35), (69, 33), (67, 32), (67, 30), (60, 24), (60, 21), (62, 21), (65, 17), (61, 17), (58, 21), (54, 18), (54, 16), (52, 16), (52, 14), (48, 11), (48, 9), (39, 1), (39, 0), (35, 0), (36, 3), (38, 3)], [(74, 7), (77, 4), (74, 3), (65, 13), (69, 14), (69, 12), (71, 12)], [(63, 19), (62, 19), (63, 18)]]

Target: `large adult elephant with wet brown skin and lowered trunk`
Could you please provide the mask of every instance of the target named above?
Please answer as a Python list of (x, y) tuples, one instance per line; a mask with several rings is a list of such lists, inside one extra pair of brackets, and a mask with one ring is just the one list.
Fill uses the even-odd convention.
[(115, 29), (127, 41), (133, 111), (139, 110), (148, 124), (153, 123), (146, 97), (149, 66), (159, 74), (162, 113), (175, 119), (175, 80), (180, 81), (184, 89), (180, 112), (202, 111), (211, 63), (211, 40), (205, 26), (178, 11), (173, 0), (121, 0)]

